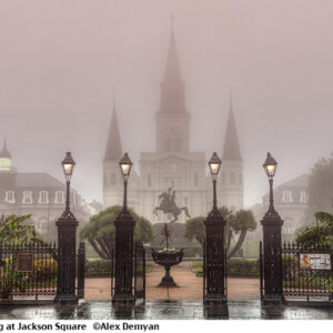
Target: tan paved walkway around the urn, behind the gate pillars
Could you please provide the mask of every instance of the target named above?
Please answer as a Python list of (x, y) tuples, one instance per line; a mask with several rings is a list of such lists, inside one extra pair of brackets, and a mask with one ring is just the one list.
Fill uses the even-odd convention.
[[(182, 262), (171, 269), (178, 287), (158, 287), (164, 269), (153, 265), (147, 274), (147, 300), (201, 300), (202, 299), (202, 278), (196, 278), (191, 271), (190, 262)], [(111, 280), (85, 279), (87, 300), (110, 300)], [(228, 297), (230, 300), (259, 300), (259, 279), (229, 278)]]

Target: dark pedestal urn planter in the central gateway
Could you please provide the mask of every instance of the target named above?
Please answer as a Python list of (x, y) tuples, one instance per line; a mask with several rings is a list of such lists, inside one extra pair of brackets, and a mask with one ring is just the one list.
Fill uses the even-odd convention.
[(182, 262), (184, 255), (184, 249), (164, 249), (162, 251), (155, 252), (152, 249), (153, 261), (165, 269), (165, 275), (162, 278), (159, 286), (178, 286), (170, 275), (171, 266), (178, 265)]

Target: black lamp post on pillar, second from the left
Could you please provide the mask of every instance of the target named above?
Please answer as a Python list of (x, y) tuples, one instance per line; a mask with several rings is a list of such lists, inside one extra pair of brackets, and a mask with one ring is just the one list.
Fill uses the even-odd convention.
[(115, 283), (112, 302), (134, 302), (133, 296), (133, 232), (135, 221), (128, 210), (128, 180), (131, 162), (128, 153), (119, 162), (123, 176), (123, 208), (114, 221), (115, 225)]

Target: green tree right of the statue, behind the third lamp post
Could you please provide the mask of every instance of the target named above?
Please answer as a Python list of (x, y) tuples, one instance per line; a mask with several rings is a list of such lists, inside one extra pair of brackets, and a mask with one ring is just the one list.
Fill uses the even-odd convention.
[[(222, 206), (219, 209), (223, 219), (226, 222), (225, 238), (226, 238), (226, 250), (228, 259), (234, 255), (241, 248), (245, 240), (246, 232), (256, 229), (256, 222), (254, 220), (252, 211), (240, 210), (233, 213), (229, 208)], [(185, 238), (189, 241), (195, 239), (202, 246), (205, 236), (204, 218), (198, 216), (186, 221)], [(239, 239), (231, 248), (232, 239), (235, 234), (240, 234)]]

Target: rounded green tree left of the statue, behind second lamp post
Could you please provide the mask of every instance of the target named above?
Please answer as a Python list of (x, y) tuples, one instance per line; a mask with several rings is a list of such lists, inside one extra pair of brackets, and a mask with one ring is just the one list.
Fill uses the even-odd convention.
[[(111, 251), (115, 242), (114, 220), (122, 211), (122, 206), (113, 205), (90, 218), (89, 223), (81, 230), (80, 238), (88, 240), (93, 250), (102, 259), (111, 259)], [(153, 239), (151, 223), (130, 210), (135, 223), (134, 240), (149, 242)]]

